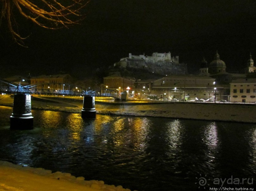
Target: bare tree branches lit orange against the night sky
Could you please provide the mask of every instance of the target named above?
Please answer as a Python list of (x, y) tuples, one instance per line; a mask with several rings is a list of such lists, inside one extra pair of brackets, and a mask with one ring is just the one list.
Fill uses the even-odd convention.
[[(22, 37), (17, 29), (13, 9), (16, 8), (26, 19), (36, 25), (58, 29), (77, 24), (82, 20), (80, 10), (84, 8), (89, 0), (0, 0), (2, 1), (1, 21), (6, 19), (13, 39), (19, 45), (24, 46)], [(75, 19), (75, 17), (77, 19)], [(1, 25), (1, 23), (0, 23)]]

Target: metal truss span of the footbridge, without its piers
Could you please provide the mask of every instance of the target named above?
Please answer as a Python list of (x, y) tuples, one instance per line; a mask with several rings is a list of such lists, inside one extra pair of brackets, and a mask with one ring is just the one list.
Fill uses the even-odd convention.
[[(48, 89), (43, 89), (40, 87), (48, 86)], [(26, 85), (23, 86), (20, 83), (15, 83), (11, 81), (7, 81), (0, 78), (0, 92), (2, 94), (15, 94), (15, 93), (23, 93), (23, 94), (41, 94), (41, 95), (64, 95), (64, 96), (94, 96), (94, 97), (112, 97), (112, 98), (121, 98), (119, 92), (112, 89), (90, 89), (84, 88), (81, 86), (76, 86), (74, 84), (61, 84), (63, 89), (50, 89), (51, 85), (55, 85), (55, 83), (41, 83), (36, 85)], [(60, 84), (59, 84), (60, 85)], [(68, 90), (64, 89), (68, 87)], [(39, 87), (39, 88), (38, 88)]]

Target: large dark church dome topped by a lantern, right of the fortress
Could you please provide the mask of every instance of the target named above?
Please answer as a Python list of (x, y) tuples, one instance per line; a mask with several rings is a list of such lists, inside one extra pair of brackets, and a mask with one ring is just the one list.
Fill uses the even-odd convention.
[(214, 60), (209, 64), (208, 72), (212, 74), (218, 74), (220, 72), (226, 72), (226, 64), (223, 60), (220, 60), (220, 55), (217, 53), (215, 54)]

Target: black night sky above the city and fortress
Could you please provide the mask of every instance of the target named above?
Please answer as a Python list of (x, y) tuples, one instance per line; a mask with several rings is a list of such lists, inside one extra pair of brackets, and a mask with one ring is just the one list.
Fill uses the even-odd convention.
[[(256, 3), (253, 0), (91, 0), (86, 18), (69, 29), (19, 23), (28, 48), (13, 43), (1, 25), (0, 75), (88, 75), (128, 53), (171, 52), (198, 70), (218, 50), (227, 71), (241, 70), (250, 52), (256, 62)], [(20, 17), (20, 16), (19, 16)], [(1, 77), (0, 77), (1, 78)]]

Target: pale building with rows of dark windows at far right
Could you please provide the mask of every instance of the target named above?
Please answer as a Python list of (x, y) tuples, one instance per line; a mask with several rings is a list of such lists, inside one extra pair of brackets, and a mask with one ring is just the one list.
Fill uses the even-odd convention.
[(256, 102), (256, 78), (243, 78), (230, 83), (231, 102)]

